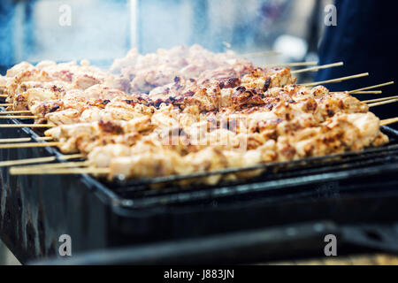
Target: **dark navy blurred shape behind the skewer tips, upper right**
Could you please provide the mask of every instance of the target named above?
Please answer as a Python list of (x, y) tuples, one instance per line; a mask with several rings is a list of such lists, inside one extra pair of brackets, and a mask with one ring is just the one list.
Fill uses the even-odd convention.
[[(327, 85), (332, 91), (352, 90), (394, 80), (382, 96), (398, 96), (397, 1), (336, 0), (337, 27), (325, 27), (319, 64), (344, 61), (343, 67), (320, 71), (315, 80), (330, 80), (358, 73), (367, 78)], [(379, 89), (378, 89), (379, 90)], [(359, 95), (358, 95), (359, 96)], [(360, 95), (361, 99), (379, 95)], [(398, 117), (398, 103), (371, 109), (381, 119)], [(395, 128), (398, 128), (394, 124)]]

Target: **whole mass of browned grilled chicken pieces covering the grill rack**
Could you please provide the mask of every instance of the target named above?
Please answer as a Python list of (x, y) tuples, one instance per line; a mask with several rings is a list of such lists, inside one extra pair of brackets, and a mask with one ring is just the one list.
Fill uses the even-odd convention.
[(0, 84), (10, 109), (54, 125), (45, 134), (62, 142), (61, 151), (109, 168), (109, 179), (210, 172), (388, 142), (379, 119), (348, 93), (295, 85), (289, 68), (255, 67), (198, 46), (146, 56), (133, 50), (111, 72), (88, 62), (21, 63)]

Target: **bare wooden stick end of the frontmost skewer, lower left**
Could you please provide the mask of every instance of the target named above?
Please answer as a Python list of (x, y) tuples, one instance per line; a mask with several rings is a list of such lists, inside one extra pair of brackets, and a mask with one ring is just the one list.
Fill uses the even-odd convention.
[(69, 174), (109, 174), (111, 170), (109, 168), (61, 168), (54, 170), (45, 171), (19, 171), (19, 167), (14, 167), (10, 169), (11, 175), (69, 175)]

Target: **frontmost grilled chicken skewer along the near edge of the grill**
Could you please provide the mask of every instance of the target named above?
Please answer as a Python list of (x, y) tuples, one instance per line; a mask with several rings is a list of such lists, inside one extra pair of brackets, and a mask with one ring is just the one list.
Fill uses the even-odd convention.
[[(295, 135), (283, 133), (277, 140), (269, 140), (257, 149), (240, 152), (220, 147), (206, 147), (182, 156), (172, 149), (165, 149), (153, 139), (144, 139), (134, 147), (120, 143), (108, 144), (96, 147), (88, 154), (87, 164), (90, 167), (87, 171), (106, 173), (110, 180), (115, 177), (153, 178), (330, 155), (346, 150), (379, 146), (387, 142), (387, 137), (379, 132), (379, 119), (371, 113), (337, 114), (319, 126), (295, 130)], [(73, 164), (65, 164), (65, 167), (70, 165)], [(92, 167), (98, 170), (92, 170)], [(18, 172), (18, 168), (13, 169), (13, 172)], [(22, 173), (34, 172), (37, 173), (34, 168), (22, 171)], [(51, 172), (49, 169), (48, 173)], [(62, 170), (57, 169), (53, 173), (61, 172)], [(253, 172), (240, 172), (229, 178), (251, 176)], [(211, 176), (206, 182), (214, 184), (219, 178)]]

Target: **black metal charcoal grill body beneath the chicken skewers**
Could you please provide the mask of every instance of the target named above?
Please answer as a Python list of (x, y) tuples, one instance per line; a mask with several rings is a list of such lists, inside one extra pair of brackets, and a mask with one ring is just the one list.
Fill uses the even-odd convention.
[[(54, 255), (62, 233), (73, 237), (76, 252), (83, 252), (325, 219), (339, 224), (398, 222), (398, 132), (386, 126), (382, 131), (390, 143), (376, 149), (152, 180), (17, 177), (3, 168), (1, 236), (19, 260), (27, 261)], [(0, 138), (21, 136), (38, 135), (27, 128), (0, 132)], [(60, 153), (36, 148), (2, 149), (0, 154), (12, 160)], [(250, 180), (177, 185), (180, 180), (259, 169), (264, 172)], [(238, 259), (239, 253), (234, 256)]]

